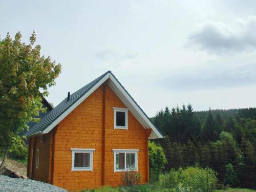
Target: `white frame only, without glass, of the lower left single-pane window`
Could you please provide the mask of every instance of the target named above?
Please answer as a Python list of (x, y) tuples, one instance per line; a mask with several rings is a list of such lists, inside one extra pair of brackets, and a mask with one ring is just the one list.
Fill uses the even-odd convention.
[[(94, 148), (70, 148), (72, 152), (72, 165), (71, 165), (71, 172), (80, 171), (80, 170), (89, 170), (93, 171), (93, 153), (95, 153)], [(84, 167), (75, 167), (75, 153), (88, 153), (90, 154), (90, 166), (89, 168)]]

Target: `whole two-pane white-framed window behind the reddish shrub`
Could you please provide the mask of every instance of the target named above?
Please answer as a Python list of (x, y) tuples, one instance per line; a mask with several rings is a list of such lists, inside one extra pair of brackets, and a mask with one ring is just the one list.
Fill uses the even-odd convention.
[(136, 170), (138, 172), (139, 150), (113, 150), (114, 172)]

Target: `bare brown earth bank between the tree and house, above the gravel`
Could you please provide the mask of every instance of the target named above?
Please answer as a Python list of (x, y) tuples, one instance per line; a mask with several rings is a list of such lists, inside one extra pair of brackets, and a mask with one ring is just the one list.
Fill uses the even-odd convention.
[(17, 161), (11, 160), (11, 159), (6, 159), (5, 166), (12, 172), (15, 172), (18, 175), (27, 178), (27, 165), (26, 164), (22, 164), (22, 163), (19, 163)]

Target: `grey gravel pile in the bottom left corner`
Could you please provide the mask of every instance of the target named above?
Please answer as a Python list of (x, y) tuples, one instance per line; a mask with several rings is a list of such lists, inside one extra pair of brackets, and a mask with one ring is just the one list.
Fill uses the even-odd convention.
[(16, 179), (0, 175), (0, 192), (42, 192), (56, 191), (67, 192), (67, 190), (50, 185), (48, 183), (34, 181), (31, 179)]

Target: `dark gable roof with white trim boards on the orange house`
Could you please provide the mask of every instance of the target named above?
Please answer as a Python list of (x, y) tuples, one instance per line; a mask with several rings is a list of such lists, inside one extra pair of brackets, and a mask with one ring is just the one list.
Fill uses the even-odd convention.
[(65, 118), (70, 112), (72, 112), (84, 99), (86, 99), (91, 93), (93, 93), (103, 82), (109, 79), (109, 86), (115, 92), (115, 94), (121, 99), (121, 101), (127, 106), (137, 120), (142, 124), (145, 129), (152, 129), (150, 139), (163, 138), (163, 135), (157, 129), (157, 127), (150, 121), (144, 111), (135, 102), (131, 95), (124, 89), (117, 78), (108, 71), (99, 76), (86, 86), (82, 87), (75, 93), (70, 95), (70, 99), (67, 101), (67, 97), (61, 101), (53, 110), (51, 110), (44, 118), (36, 123), (25, 136), (41, 135), (49, 133), (63, 118)]

